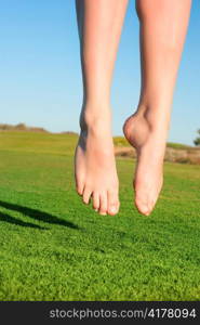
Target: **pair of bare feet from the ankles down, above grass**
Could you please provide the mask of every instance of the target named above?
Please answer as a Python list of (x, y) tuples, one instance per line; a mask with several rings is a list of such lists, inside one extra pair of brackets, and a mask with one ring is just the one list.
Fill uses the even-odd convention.
[[(75, 155), (75, 174), (77, 192), (82, 196), (83, 203), (89, 204), (92, 199), (95, 211), (114, 216), (120, 207), (119, 181), (110, 115), (105, 114), (92, 116), (90, 108), (84, 109)], [(135, 206), (145, 216), (152, 211), (162, 187), (166, 131), (154, 125), (147, 109), (143, 107), (129, 117), (123, 126), (126, 140), (137, 153), (133, 182)]]

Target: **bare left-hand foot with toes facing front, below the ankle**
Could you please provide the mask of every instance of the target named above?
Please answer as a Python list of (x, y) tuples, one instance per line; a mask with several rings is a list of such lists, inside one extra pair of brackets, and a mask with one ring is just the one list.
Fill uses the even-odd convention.
[(109, 119), (90, 118), (82, 122), (75, 154), (77, 192), (85, 204), (101, 214), (116, 214), (119, 210), (118, 176)]

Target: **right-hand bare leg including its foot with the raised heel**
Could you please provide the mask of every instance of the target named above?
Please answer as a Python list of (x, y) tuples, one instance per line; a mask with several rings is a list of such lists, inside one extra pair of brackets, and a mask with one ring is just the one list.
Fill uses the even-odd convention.
[(171, 103), (191, 0), (137, 0), (141, 22), (142, 90), (136, 113), (124, 123), (137, 151), (135, 204), (149, 214), (162, 187)]

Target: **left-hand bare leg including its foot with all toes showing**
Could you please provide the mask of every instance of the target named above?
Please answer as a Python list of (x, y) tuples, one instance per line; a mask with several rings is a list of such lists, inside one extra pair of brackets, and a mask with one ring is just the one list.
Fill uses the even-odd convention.
[(83, 105), (76, 148), (77, 191), (101, 214), (119, 209), (110, 128), (110, 83), (128, 0), (77, 0)]

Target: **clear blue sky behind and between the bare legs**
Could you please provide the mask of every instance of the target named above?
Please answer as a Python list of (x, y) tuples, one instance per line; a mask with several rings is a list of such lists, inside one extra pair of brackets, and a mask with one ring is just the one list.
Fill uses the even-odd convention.
[[(169, 141), (192, 144), (200, 128), (200, 3), (194, 0)], [(82, 83), (74, 0), (0, 0), (0, 122), (79, 131)], [(114, 134), (139, 93), (138, 22), (130, 0), (116, 62)]]

